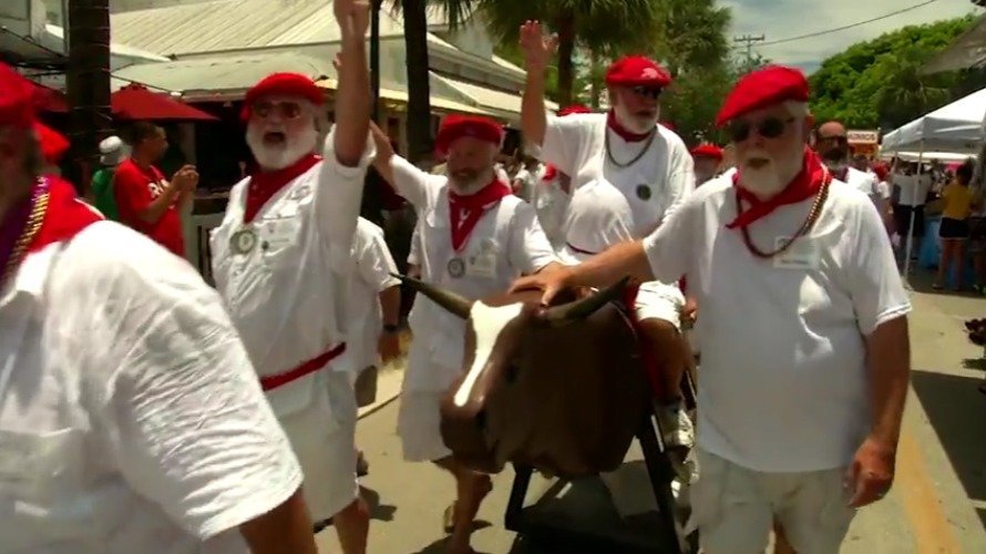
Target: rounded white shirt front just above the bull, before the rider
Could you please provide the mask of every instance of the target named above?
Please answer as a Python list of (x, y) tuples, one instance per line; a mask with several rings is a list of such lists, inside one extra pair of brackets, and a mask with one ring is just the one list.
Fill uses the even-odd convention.
[(610, 246), (634, 239), (634, 213), (626, 197), (605, 179), (576, 188), (558, 256), (578, 264)]

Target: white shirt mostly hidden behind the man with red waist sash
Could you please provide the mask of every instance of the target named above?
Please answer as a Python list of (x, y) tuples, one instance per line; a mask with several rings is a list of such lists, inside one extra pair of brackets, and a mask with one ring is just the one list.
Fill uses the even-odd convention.
[(387, 248), (383, 229), (362, 217), (356, 226), (352, 242), (356, 275), (349, 283), (349, 318), (352, 332), (347, 340), (347, 356), (353, 356), (351, 365), (357, 372), (370, 366), (379, 366), (377, 341), (383, 329), (383, 311), (380, 293), (399, 286), (397, 264)]

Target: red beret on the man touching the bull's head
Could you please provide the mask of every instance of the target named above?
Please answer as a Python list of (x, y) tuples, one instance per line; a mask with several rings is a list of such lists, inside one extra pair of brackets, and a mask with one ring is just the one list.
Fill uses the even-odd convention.
[(789, 100), (808, 102), (809, 88), (804, 73), (794, 68), (768, 65), (743, 75), (726, 96), (716, 125), (761, 107)]

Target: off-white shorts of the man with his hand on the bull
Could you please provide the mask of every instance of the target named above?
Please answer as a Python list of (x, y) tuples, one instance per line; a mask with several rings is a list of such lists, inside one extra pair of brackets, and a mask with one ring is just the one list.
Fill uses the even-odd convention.
[(697, 449), (691, 521), (703, 552), (763, 552), (773, 520), (799, 554), (838, 554), (855, 510), (842, 486), (845, 470), (763, 473)]

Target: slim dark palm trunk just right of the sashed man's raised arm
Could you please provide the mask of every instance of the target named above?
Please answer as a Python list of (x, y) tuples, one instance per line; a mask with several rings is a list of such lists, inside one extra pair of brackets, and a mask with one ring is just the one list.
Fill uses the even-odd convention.
[(428, 65), (427, 0), (401, 0), (408, 58), (408, 160), (431, 155), (431, 88)]

